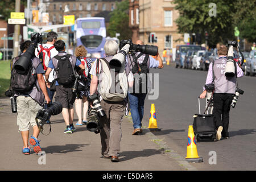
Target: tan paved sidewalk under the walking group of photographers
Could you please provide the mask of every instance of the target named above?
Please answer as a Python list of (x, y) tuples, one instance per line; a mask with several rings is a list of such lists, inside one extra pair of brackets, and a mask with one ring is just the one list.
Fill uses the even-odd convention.
[[(100, 134), (86, 130), (86, 125), (77, 126), (73, 134), (64, 134), (62, 115), (51, 118), (52, 132), (39, 135), (42, 151), (46, 152), (46, 164), (39, 164), (39, 155), (22, 154), (22, 139), (16, 126), (16, 114), (11, 113), (10, 99), (0, 98), (0, 170), (193, 170), (171, 149), (150, 131), (143, 135), (131, 135), (133, 124), (130, 116), (122, 122), (120, 162), (101, 158)], [(77, 117), (75, 115), (75, 122)], [(75, 125), (76, 126), (76, 125)], [(48, 127), (48, 126), (47, 126)], [(48, 128), (46, 129), (48, 131)], [(42, 157), (41, 157), (42, 158)], [(177, 160), (178, 159), (178, 160)]]

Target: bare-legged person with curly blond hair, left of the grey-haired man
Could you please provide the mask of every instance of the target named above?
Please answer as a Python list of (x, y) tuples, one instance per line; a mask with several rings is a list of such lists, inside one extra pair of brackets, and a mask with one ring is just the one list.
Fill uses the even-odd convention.
[[(90, 57), (86, 57), (87, 51), (84, 46), (79, 46), (75, 49), (75, 55), (77, 59), (79, 59), (85, 67), (84, 76), (90, 78), (90, 68), (92, 67), (92, 59)], [(77, 93), (75, 107), (76, 107), (76, 114), (79, 118), (79, 121), (76, 125), (81, 126), (82, 123), (87, 122), (87, 111), (88, 111), (88, 97), (90, 96), (90, 81), (84, 80), (83, 84), (85, 86), (85, 90)], [(82, 109), (83, 108), (83, 109)], [(82, 114), (83, 111), (83, 114)]]

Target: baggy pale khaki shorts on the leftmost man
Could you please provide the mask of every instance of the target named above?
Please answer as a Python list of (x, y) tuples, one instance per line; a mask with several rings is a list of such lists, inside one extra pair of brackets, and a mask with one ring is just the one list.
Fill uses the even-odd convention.
[(43, 107), (38, 104), (31, 97), (18, 96), (17, 97), (17, 125), (19, 131), (28, 131), (30, 125), (36, 125), (36, 114)]

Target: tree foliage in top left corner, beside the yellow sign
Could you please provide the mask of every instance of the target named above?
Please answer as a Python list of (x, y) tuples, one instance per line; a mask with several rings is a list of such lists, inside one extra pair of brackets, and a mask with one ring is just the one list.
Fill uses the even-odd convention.
[[(20, 5), (27, 5), (27, 0), (20, 1)], [(8, 21), (11, 12), (15, 11), (15, 0), (1, 0), (0, 1), (0, 15)]]

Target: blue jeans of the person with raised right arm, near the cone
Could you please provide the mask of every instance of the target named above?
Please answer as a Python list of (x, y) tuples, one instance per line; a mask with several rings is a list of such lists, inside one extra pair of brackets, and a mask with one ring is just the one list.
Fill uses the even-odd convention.
[(134, 129), (141, 129), (141, 121), (144, 114), (144, 101), (146, 98), (146, 93), (135, 93), (130, 94), (129, 96), (129, 102), (130, 102), (130, 110), (131, 110), (131, 118), (133, 118), (133, 127)]

